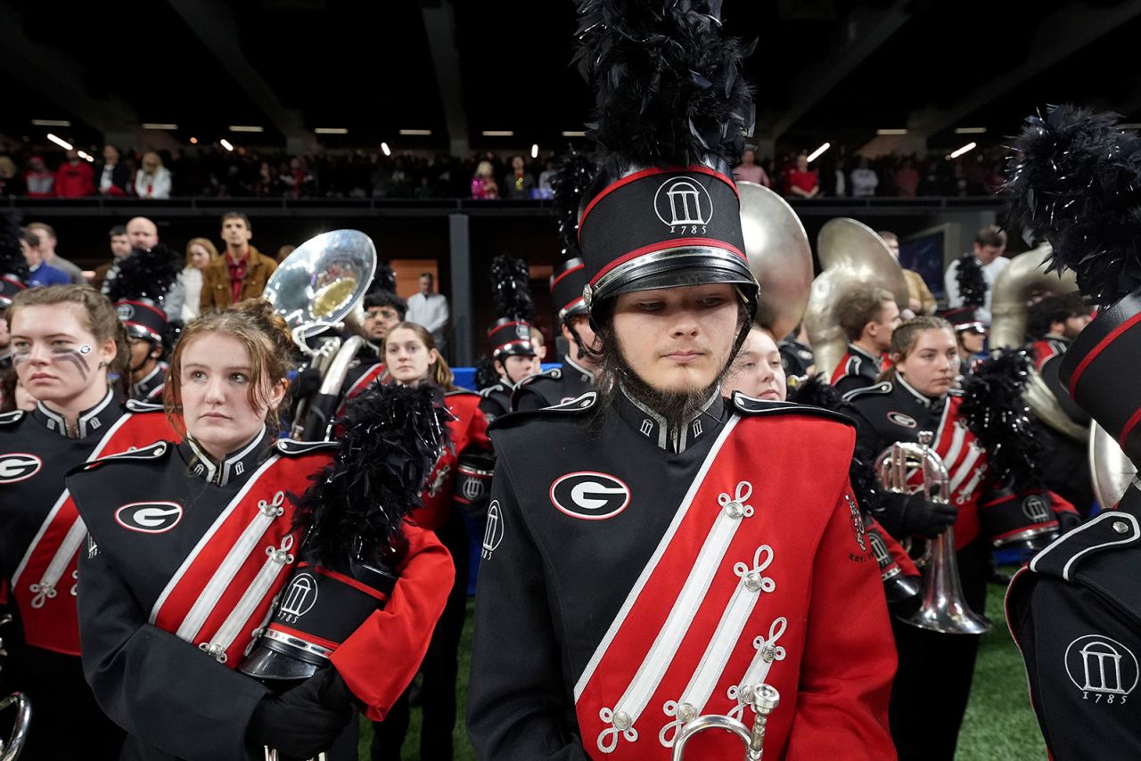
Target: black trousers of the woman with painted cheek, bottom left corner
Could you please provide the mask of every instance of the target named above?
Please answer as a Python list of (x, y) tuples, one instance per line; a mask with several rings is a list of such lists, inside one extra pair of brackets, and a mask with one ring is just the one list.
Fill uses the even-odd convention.
[[(5, 694), (18, 689), (32, 703), (21, 761), (119, 758), (124, 732), (99, 710), (78, 656), (23, 646), (11, 648), (3, 669)], [(10, 732), (14, 719), (15, 709), (8, 709), (0, 717), (0, 731)]]

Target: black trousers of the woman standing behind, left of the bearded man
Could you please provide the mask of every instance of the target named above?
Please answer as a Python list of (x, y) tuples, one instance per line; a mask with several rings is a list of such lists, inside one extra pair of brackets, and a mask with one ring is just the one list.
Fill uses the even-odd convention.
[[(420, 701), (423, 721), (420, 728), (420, 759), (452, 759), (452, 731), (455, 729), (455, 677), (460, 634), (468, 607), (468, 532), (463, 518), (453, 512), (436, 529), (436, 536), (452, 553), (455, 584), (447, 597), (444, 615), (432, 632), (428, 653), (420, 666)], [(408, 690), (393, 705), (385, 721), (373, 723), (373, 761), (399, 761), (400, 746), (408, 732)]]

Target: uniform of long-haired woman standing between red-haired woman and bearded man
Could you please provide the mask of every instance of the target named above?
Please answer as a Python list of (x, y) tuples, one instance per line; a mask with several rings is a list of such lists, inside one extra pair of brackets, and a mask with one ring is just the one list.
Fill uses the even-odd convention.
[[(436, 462), (423, 493), (423, 507), (410, 518), (418, 526), (435, 532), (452, 554), (455, 581), (447, 606), (432, 632), (428, 654), (420, 667), (420, 758), (451, 759), (455, 728), (455, 680), (460, 634), (468, 607), (470, 552), (468, 531), (461, 510), (480, 518), (491, 494), (493, 459), (487, 438), (487, 420), (479, 410), (482, 397), (474, 391), (455, 390), (444, 396), (452, 413), (447, 423), (452, 447)], [(374, 759), (400, 759), (400, 746), (408, 728), (408, 695), (393, 706), (388, 718), (375, 724)]]

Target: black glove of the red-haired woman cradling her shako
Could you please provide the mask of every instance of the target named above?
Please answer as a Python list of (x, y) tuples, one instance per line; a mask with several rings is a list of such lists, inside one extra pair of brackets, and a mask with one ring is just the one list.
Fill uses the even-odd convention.
[(330, 665), (291, 690), (262, 698), (245, 737), (254, 747), (310, 759), (327, 751), (351, 718), (353, 694)]

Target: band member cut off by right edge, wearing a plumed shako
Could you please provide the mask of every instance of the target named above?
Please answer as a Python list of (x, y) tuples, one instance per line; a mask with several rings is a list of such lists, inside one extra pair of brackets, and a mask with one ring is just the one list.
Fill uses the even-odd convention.
[[(1059, 358), (1060, 383), (1136, 467), (1141, 140), (1119, 121), (1073, 106), (1028, 119), (1009, 187), (1015, 222), (1046, 240), (1051, 268), (1073, 269), (1083, 294), (1101, 307)], [(1141, 485), (1133, 479), (1116, 509), (1035, 556), (1006, 594), (1030, 701), (1058, 761), (1141, 756), (1138, 548)]]

